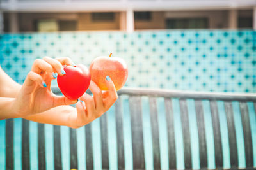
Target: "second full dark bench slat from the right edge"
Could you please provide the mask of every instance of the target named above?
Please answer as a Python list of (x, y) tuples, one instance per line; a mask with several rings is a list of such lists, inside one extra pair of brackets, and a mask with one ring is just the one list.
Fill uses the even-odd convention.
[(238, 167), (236, 131), (234, 125), (234, 114), (231, 102), (225, 102), (225, 111), (228, 125), (228, 140), (231, 167)]

